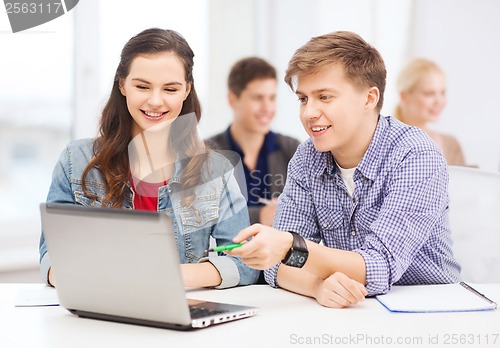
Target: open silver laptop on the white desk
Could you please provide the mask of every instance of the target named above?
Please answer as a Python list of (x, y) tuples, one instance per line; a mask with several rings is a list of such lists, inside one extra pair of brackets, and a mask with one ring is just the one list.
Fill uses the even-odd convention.
[(81, 317), (187, 330), (257, 308), (186, 298), (165, 214), (42, 203), (61, 306)]

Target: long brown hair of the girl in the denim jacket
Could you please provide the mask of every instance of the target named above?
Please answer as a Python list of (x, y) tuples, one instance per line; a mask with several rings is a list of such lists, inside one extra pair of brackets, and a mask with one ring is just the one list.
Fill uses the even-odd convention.
[[(194, 53), (186, 40), (173, 30), (151, 28), (132, 37), (123, 47), (120, 63), (116, 69), (111, 95), (102, 111), (99, 137), (94, 142), (94, 157), (82, 174), (82, 187), (85, 194), (93, 199), (85, 184), (85, 178), (92, 168), (98, 168), (106, 181), (107, 191), (103, 205), (120, 207), (127, 192), (129, 183), (128, 145), (132, 140), (133, 119), (130, 115), (126, 98), (120, 92), (120, 82), (125, 80), (130, 71), (132, 61), (139, 55), (156, 54), (163, 52), (174, 53), (183, 63), (186, 82), (191, 91), (183, 103), (180, 116), (194, 113), (196, 122), (201, 118), (201, 105), (196, 94), (193, 79)], [(193, 128), (191, 128), (193, 129)], [(195, 128), (194, 128), (195, 129)], [(196, 132), (172, 132), (173, 142), (194, 143), (198, 137)], [(193, 151), (189, 146), (175, 146), (185, 150), (183, 158), (189, 158), (181, 177), (183, 189), (196, 185), (201, 176), (201, 169), (205, 156), (189, 156)]]

